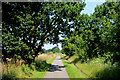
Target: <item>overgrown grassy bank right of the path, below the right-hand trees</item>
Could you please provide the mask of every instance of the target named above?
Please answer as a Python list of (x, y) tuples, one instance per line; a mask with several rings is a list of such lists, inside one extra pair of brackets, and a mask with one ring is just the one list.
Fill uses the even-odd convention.
[[(67, 57), (65, 57), (67, 59)], [(69, 63), (75, 64), (79, 70), (88, 76), (100, 80), (120, 79), (120, 67), (111, 62), (104, 63), (104, 58), (94, 58), (87, 62), (81, 63), (78, 56), (73, 56), (67, 60)]]

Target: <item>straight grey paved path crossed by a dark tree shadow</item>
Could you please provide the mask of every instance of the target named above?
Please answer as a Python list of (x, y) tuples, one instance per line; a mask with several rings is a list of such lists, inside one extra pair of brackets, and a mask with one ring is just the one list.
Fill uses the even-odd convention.
[(66, 78), (69, 80), (68, 74), (65, 70), (60, 56), (57, 56), (53, 61), (50, 70), (46, 73), (44, 78)]

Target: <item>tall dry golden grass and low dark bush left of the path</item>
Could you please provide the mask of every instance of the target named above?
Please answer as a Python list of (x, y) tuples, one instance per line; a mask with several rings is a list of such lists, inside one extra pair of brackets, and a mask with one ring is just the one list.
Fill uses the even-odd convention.
[[(14, 80), (18, 78), (30, 78), (34, 76), (35, 72), (41, 72), (42, 70), (44, 71), (48, 70), (48, 68), (50, 67), (50, 64), (48, 64), (46, 61), (49, 61), (53, 57), (55, 57), (54, 54), (39, 55), (38, 57), (36, 57), (35, 62), (30, 65), (25, 64), (25, 63), (21, 64), (21, 61), (17, 62), (17, 64), (13, 62), (9, 62), (7, 64), (2, 62), (2, 79), (3, 80), (7, 80), (7, 79)], [(45, 73), (43, 74), (43, 76), (44, 75)], [(34, 78), (37, 78), (37, 77), (34, 77)]]

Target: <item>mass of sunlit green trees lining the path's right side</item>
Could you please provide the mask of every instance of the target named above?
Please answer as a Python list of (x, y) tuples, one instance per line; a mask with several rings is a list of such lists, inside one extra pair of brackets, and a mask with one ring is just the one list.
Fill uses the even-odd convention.
[(105, 62), (120, 62), (119, 2), (105, 2), (88, 16), (82, 14), (73, 32), (64, 39), (62, 53), (77, 54), (82, 62), (105, 57)]

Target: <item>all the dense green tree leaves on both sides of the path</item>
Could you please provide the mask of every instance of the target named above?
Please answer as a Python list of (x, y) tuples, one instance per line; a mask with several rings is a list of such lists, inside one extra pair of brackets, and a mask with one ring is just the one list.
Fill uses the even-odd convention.
[[(120, 59), (120, 2), (105, 2), (88, 16), (84, 2), (3, 3), (3, 55), (32, 62), (44, 43), (63, 41), (62, 53), (82, 61)], [(57, 47), (53, 50), (59, 51)]]

